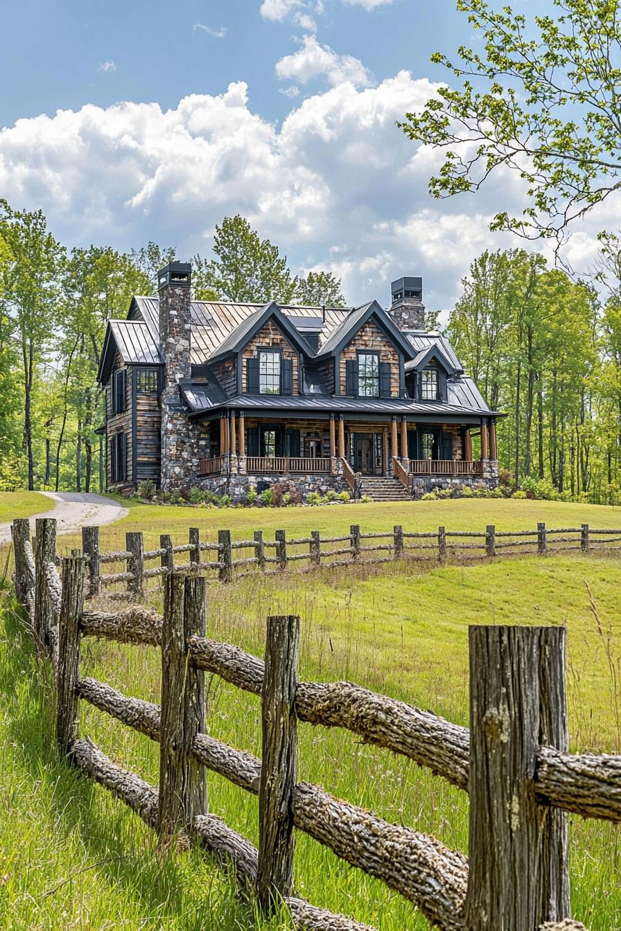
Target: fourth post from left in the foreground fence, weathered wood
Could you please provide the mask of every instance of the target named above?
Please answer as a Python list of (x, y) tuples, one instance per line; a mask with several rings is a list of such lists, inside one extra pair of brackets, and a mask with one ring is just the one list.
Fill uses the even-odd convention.
[(207, 808), (204, 767), (192, 753), (192, 741), (205, 730), (205, 673), (188, 662), (187, 641), (193, 634), (205, 636), (205, 579), (167, 575), (157, 809), (159, 843), (164, 847)]

